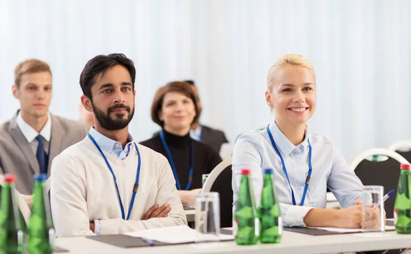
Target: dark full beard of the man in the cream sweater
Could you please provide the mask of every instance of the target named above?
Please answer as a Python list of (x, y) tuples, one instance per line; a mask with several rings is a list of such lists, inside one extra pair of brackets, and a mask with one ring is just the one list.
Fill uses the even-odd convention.
[[(92, 105), (92, 110), (95, 113), (95, 116), (97, 120), (99, 121), (100, 126), (103, 129), (107, 129), (108, 131), (116, 131), (118, 129), (124, 129), (125, 127), (127, 127), (127, 125), (130, 123), (130, 121), (132, 120), (134, 116), (134, 107), (133, 107), (133, 111), (130, 113), (130, 107), (124, 104), (116, 104), (114, 106), (109, 107), (107, 109), (107, 114), (105, 114), (103, 110), (99, 110), (97, 107), (95, 107), (94, 104), (91, 103), (91, 105)], [(127, 110), (127, 112), (129, 113), (129, 116), (127, 119), (113, 120), (112, 118), (110, 118), (110, 112), (118, 108), (123, 108)], [(118, 118), (121, 117), (121, 115), (122, 114), (116, 114)]]

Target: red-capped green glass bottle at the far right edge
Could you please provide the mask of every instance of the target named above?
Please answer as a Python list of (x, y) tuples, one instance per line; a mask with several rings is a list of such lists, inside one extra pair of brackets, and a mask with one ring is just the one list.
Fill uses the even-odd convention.
[(395, 231), (411, 233), (411, 165), (401, 164), (397, 197), (395, 198)]

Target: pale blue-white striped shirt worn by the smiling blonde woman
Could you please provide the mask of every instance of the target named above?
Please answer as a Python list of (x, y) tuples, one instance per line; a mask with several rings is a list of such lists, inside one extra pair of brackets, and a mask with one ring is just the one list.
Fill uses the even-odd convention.
[[(251, 169), (256, 205), (260, 203), (264, 168), (273, 168), (274, 181), (282, 210), (284, 226), (306, 227), (303, 218), (312, 208), (325, 208), (327, 187), (336, 196), (342, 207), (354, 205), (360, 199), (362, 183), (333, 142), (325, 136), (306, 132), (306, 138), (297, 147), (279, 130), (275, 122), (269, 125), (275, 144), (281, 153), (294, 190), (297, 205), (292, 205), (291, 189), (288, 185), (282, 162), (275, 152), (266, 129), (243, 134), (238, 138), (233, 151), (234, 207), (240, 187), (241, 169)], [(303, 207), (301, 197), (308, 175), (308, 140), (312, 146), (312, 175)]]

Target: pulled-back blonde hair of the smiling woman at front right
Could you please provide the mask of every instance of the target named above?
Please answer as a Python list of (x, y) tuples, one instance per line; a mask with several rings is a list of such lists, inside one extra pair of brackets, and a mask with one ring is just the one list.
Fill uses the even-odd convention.
[(271, 92), (273, 80), (275, 79), (275, 75), (277, 75), (278, 69), (287, 65), (306, 67), (312, 71), (315, 77), (314, 68), (312, 67), (310, 60), (297, 54), (282, 55), (275, 61), (270, 67), (269, 73), (267, 73), (267, 90), (269, 90), (269, 92)]

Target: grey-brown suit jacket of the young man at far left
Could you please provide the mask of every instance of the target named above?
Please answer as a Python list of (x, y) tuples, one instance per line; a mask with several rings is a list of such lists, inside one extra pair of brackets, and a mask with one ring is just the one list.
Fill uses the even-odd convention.
[[(51, 138), (48, 174), (51, 162), (64, 149), (83, 140), (88, 130), (77, 121), (51, 115)], [(17, 113), (0, 127), (0, 174), (16, 175), (16, 189), (21, 194), (32, 194), (33, 175), (40, 173), (40, 167), (32, 147), (18, 127)]]

